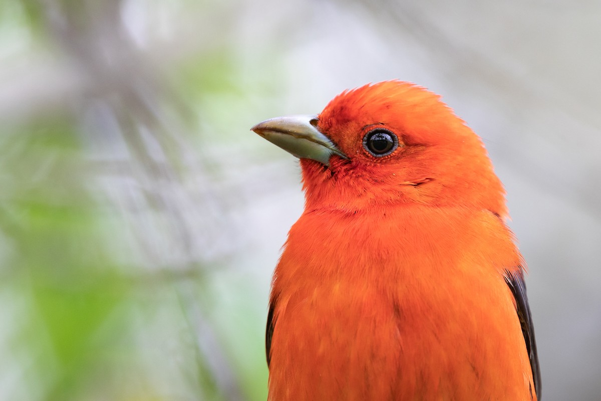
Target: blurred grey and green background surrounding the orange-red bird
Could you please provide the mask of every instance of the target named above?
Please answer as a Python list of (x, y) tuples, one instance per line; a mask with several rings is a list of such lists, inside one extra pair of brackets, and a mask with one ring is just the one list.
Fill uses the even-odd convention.
[(0, 400), (264, 400), (299, 167), (249, 128), (400, 78), (505, 183), (546, 401), (601, 399), (601, 3), (1, 0)]

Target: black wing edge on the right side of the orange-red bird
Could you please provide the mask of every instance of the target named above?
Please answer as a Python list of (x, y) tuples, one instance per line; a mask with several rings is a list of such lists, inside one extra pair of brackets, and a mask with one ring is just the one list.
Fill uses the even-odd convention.
[(536, 392), (537, 400), (540, 401), (542, 388), (540, 365), (538, 364), (538, 353), (534, 338), (534, 324), (532, 323), (532, 314), (528, 305), (526, 283), (524, 282), (521, 266), (517, 272), (505, 271), (505, 281), (511, 289), (511, 293), (513, 293), (513, 298), (516, 300), (516, 312), (522, 326), (524, 341), (526, 341), (526, 349), (528, 350), (528, 358), (530, 359), (530, 367), (532, 369), (532, 379), (534, 380), (534, 391)]

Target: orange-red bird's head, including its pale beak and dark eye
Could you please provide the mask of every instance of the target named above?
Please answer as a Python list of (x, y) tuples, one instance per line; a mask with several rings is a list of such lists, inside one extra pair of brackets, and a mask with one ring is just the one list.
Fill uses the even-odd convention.
[(438, 95), (409, 82), (347, 90), (319, 115), (252, 130), (301, 159), (308, 209), (406, 203), (507, 215), (480, 138)]

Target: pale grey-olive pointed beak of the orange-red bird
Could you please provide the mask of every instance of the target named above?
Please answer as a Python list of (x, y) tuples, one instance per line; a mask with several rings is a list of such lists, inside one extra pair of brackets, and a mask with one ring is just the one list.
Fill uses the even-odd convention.
[(328, 136), (317, 129), (317, 115), (270, 118), (251, 130), (299, 159), (312, 159), (326, 166), (334, 155), (348, 159)]

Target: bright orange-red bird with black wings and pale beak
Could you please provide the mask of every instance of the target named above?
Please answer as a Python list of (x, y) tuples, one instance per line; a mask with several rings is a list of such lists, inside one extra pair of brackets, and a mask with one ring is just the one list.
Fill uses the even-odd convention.
[(475, 133), (409, 82), (252, 130), (301, 159), (273, 274), (269, 400), (540, 400), (505, 192)]

